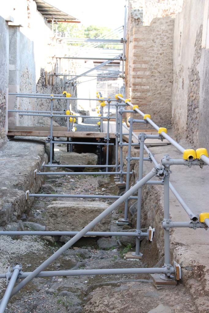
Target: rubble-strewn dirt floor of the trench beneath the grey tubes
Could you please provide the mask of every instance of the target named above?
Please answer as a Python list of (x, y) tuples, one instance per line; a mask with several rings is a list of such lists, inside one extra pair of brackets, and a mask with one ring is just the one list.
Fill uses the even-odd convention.
[[(63, 149), (65, 149), (63, 147)], [(62, 150), (62, 146), (60, 146)], [(133, 165), (136, 166), (136, 165)], [(112, 176), (60, 176), (60, 169), (50, 168), (57, 175), (44, 176), (44, 185), (39, 193), (71, 193), (116, 195), (118, 189)], [(133, 182), (132, 182), (133, 183)], [(141, 260), (126, 260), (124, 253), (134, 251), (133, 240), (126, 237), (98, 238), (83, 237), (62, 256), (56, 259), (46, 270), (64, 269), (108, 269), (108, 268), (137, 268), (162, 266), (163, 249), (162, 231), (160, 228), (161, 211), (158, 199), (150, 195), (149, 187), (144, 188), (143, 197), (149, 198), (150, 206), (143, 205), (142, 227), (147, 228), (155, 214), (159, 219), (152, 243), (143, 239), (141, 249), (144, 257)], [(76, 199), (75, 199), (76, 200)], [(154, 200), (154, 204), (153, 204)], [(29, 215), (23, 218), (24, 230), (38, 230), (37, 224), (47, 224), (47, 207), (58, 198), (35, 198)], [(65, 198), (72, 202), (74, 199)], [(104, 199), (79, 199), (81, 202), (105, 202)], [(108, 205), (114, 200), (108, 199)], [(130, 202), (130, 205), (132, 203)], [(129, 212), (130, 226), (118, 226), (116, 221), (123, 217), (124, 205), (119, 206), (111, 214), (111, 231), (135, 228), (136, 216)], [(129, 210), (130, 211), (130, 210)], [(28, 224), (27, 222), (31, 222)], [(29, 227), (29, 228), (28, 228)], [(70, 230), (70, 229), (68, 229)], [(68, 238), (69, 239), (69, 238)], [(62, 237), (7, 237), (7, 244), (13, 246), (9, 264), (19, 262), (24, 272), (33, 271), (39, 264), (59, 249), (66, 242)], [(122, 243), (123, 242), (123, 243)], [(33, 249), (32, 249), (33, 247)], [(1, 282), (2, 283), (2, 282)], [(2, 284), (2, 295), (4, 284)], [(171, 299), (175, 299), (171, 304)], [(152, 310), (155, 309), (156, 310)], [(36, 278), (15, 295), (8, 304), (8, 313), (122, 313), (129, 312), (194, 312), (196, 307), (182, 284), (157, 290), (149, 275), (95, 275)]]

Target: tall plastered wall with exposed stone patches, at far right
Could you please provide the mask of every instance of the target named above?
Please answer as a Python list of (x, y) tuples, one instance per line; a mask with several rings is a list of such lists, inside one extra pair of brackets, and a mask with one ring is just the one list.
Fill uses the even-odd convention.
[(175, 136), (187, 137), (196, 148), (209, 144), (208, 50), (201, 48), (204, 10), (205, 1), (186, 0), (174, 28), (172, 123)]

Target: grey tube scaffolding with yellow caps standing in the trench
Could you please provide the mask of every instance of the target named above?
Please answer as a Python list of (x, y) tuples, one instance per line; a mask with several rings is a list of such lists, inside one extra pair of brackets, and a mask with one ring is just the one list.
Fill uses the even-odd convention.
[[(73, 117), (73, 115), (61, 114), (60, 112), (53, 112), (53, 99), (64, 99), (66, 98), (61, 95), (55, 95), (54, 97), (51, 95), (16, 95), (18, 97), (44, 97), (46, 99), (50, 99), (51, 103), (51, 110), (50, 114), (42, 114), (41, 111), (36, 111), (35, 114), (48, 116), (51, 121), (53, 116), (60, 116), (60, 117)], [(98, 95), (97, 95), (98, 96)], [(50, 277), (50, 276), (77, 276), (77, 275), (110, 275), (110, 274), (157, 274), (159, 275), (160, 279), (165, 281), (166, 283), (176, 282), (176, 280), (181, 279), (181, 268), (178, 263), (173, 262), (171, 263), (170, 260), (170, 229), (172, 228), (207, 228), (209, 227), (209, 213), (201, 213), (200, 216), (197, 216), (191, 208), (184, 202), (181, 198), (179, 193), (175, 190), (174, 186), (170, 183), (170, 167), (172, 165), (184, 165), (188, 167), (192, 166), (200, 166), (200, 168), (204, 168), (204, 166), (209, 165), (209, 158), (208, 153), (205, 148), (199, 148), (196, 151), (193, 149), (184, 149), (180, 144), (174, 141), (168, 134), (167, 129), (164, 127), (157, 126), (154, 121), (151, 120), (151, 116), (149, 114), (144, 114), (141, 110), (139, 110), (138, 105), (133, 105), (129, 99), (124, 99), (121, 94), (117, 94), (114, 99), (107, 98), (102, 99), (102, 97), (97, 97), (94, 100), (101, 99), (100, 104), (105, 103), (108, 107), (114, 105), (116, 108), (116, 115), (115, 119), (115, 126), (116, 126), (116, 164), (109, 165), (108, 160), (105, 165), (105, 172), (102, 172), (102, 175), (114, 175), (115, 181), (123, 183), (123, 177), (126, 176), (126, 183), (125, 183), (125, 193), (120, 196), (108, 196), (108, 195), (72, 195), (72, 194), (31, 194), (26, 191), (26, 200), (29, 200), (31, 197), (56, 197), (56, 198), (104, 198), (104, 199), (116, 199), (114, 203), (112, 203), (106, 210), (104, 210), (99, 216), (93, 219), (86, 227), (84, 227), (81, 231), (76, 232), (57, 232), (57, 231), (3, 231), (0, 232), (0, 235), (71, 235), (71, 238), (65, 245), (63, 245), (59, 250), (57, 250), (54, 254), (52, 254), (47, 260), (45, 260), (39, 267), (37, 267), (33, 272), (23, 272), (21, 265), (17, 265), (13, 267), (13, 271), (10, 272), (8, 269), (7, 273), (0, 274), (0, 278), (6, 278), (7, 282), (9, 281), (7, 290), (3, 299), (1, 300), (0, 304), (0, 313), (4, 312), (8, 300), (10, 297), (15, 295), (18, 291), (20, 291), (26, 284), (28, 284), (32, 279), (35, 277)], [(127, 110), (124, 106), (129, 107)], [(13, 110), (14, 111), (14, 110)], [(17, 110), (16, 110), (17, 111)], [(33, 112), (27, 111), (22, 113), (17, 111), (20, 115), (34, 115)], [(123, 114), (124, 113), (138, 113), (140, 114), (143, 119), (134, 119), (133, 117), (129, 119), (129, 127), (124, 125), (123, 123)], [(48, 113), (48, 111), (47, 111)], [(54, 114), (56, 113), (56, 114)], [(57, 114), (59, 113), (59, 114)], [(102, 118), (104, 116), (100, 116)], [(86, 116), (85, 116), (86, 118)], [(107, 115), (108, 118), (108, 115)], [(111, 117), (112, 118), (112, 117)], [(155, 130), (158, 131), (157, 135), (148, 135), (146, 133), (140, 133), (137, 136), (133, 132), (133, 124), (134, 123), (142, 123), (142, 124), (150, 124), (153, 126)], [(52, 125), (52, 123), (51, 123)], [(100, 125), (101, 126), (101, 125)], [(128, 143), (123, 142), (123, 128), (128, 131), (129, 140)], [(52, 127), (53, 132), (53, 127)], [(132, 143), (132, 136), (134, 136), (138, 140), (138, 144)], [(178, 149), (182, 154), (182, 159), (172, 159), (168, 154), (165, 154), (162, 157), (161, 163), (158, 163), (154, 155), (148, 149), (148, 147), (144, 144), (144, 141), (149, 138), (159, 139), (163, 141), (167, 139), (171, 145), (173, 145), (176, 149)], [(108, 138), (107, 138), (108, 139)], [(37, 170), (34, 173), (34, 177), (36, 178), (37, 175), (54, 175), (56, 172), (44, 172), (44, 169), (47, 167), (59, 167), (62, 165), (52, 164), (52, 144), (57, 142), (66, 143), (66, 141), (51, 141), (50, 139), (50, 163), (42, 165), (42, 172), (38, 172)], [(74, 143), (75, 144), (75, 143)], [(76, 143), (77, 144), (77, 143)], [(92, 143), (88, 143), (92, 144)], [(97, 143), (98, 144), (98, 143)], [(105, 145), (108, 146), (107, 142)], [(109, 143), (110, 145), (110, 143)], [(123, 171), (123, 146), (128, 145), (128, 154), (126, 157), (127, 160), (127, 170), (126, 172)], [(139, 156), (132, 157), (131, 156), (131, 147), (133, 145), (139, 145)], [(118, 163), (118, 149), (120, 151), (120, 162)], [(144, 156), (144, 150), (147, 152), (148, 157)], [(138, 170), (138, 181), (135, 183), (133, 187), (130, 188), (129, 186), (129, 178), (130, 175), (133, 175), (133, 172), (130, 172), (130, 162), (131, 160), (135, 160), (139, 162), (139, 170)], [(143, 163), (144, 162), (153, 162), (154, 167), (153, 169), (143, 177)], [(87, 165), (90, 167), (89, 165)], [(73, 165), (64, 165), (62, 167), (73, 167)], [(77, 167), (77, 165), (76, 165)], [(83, 165), (86, 167), (86, 165)], [(91, 166), (93, 167), (93, 166)], [(108, 169), (111, 168), (113, 171), (108, 172)], [(96, 172), (97, 174), (99, 172)], [(59, 175), (94, 175), (94, 172), (59, 172)], [(153, 177), (157, 177), (158, 180), (153, 180)], [(60, 271), (44, 271), (44, 269), (51, 264), (55, 259), (57, 259), (63, 252), (69, 249), (73, 244), (77, 242), (81, 237), (85, 235), (89, 236), (133, 236), (136, 239), (136, 249), (135, 252), (132, 253), (132, 257), (140, 259), (142, 258), (143, 254), (140, 251), (140, 238), (146, 237), (148, 242), (152, 241), (155, 229), (152, 226), (147, 228), (146, 232), (142, 232), (141, 230), (141, 204), (142, 204), (142, 188), (145, 184), (149, 185), (162, 185), (164, 189), (164, 218), (162, 221), (162, 228), (164, 229), (164, 265), (161, 268), (128, 268), (128, 269), (87, 269), (87, 270), (60, 270)], [(169, 212), (169, 189), (173, 192), (176, 199), (184, 208), (185, 212), (189, 217), (189, 221), (171, 221), (170, 219), (170, 212)], [(138, 192), (137, 196), (133, 196), (133, 193)], [(104, 217), (106, 217), (109, 213), (111, 213), (114, 209), (116, 209), (120, 204), (125, 202), (125, 211), (124, 211), (124, 218), (122, 220), (118, 220), (118, 224), (120, 223), (127, 223), (128, 224), (128, 201), (130, 199), (137, 199), (137, 229), (134, 233), (127, 233), (127, 232), (91, 232), (91, 229), (97, 225)], [(16, 287), (14, 287), (15, 281), (19, 279), (21, 280)]]

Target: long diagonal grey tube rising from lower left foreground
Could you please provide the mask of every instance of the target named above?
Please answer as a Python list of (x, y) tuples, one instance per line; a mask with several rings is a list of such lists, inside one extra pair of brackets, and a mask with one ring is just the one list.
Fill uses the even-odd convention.
[[(45, 260), (39, 267), (37, 267), (31, 274), (28, 275), (22, 282), (20, 282), (12, 292), (12, 296), (15, 295), (19, 290), (21, 290), (26, 284), (28, 284), (34, 277), (39, 275), (41, 271), (43, 271), (48, 265), (50, 265), (55, 259), (57, 259), (63, 252), (65, 252), (67, 249), (69, 249), (73, 244), (75, 244), (81, 237), (83, 237), (88, 231), (91, 230), (97, 223), (99, 223), (104, 217), (106, 217), (108, 214), (110, 214), (115, 208), (118, 207), (123, 201), (130, 197), (135, 191), (138, 190), (141, 186), (143, 186), (147, 181), (149, 181), (154, 175), (157, 173), (156, 169), (153, 168), (151, 172), (149, 172), (145, 177), (141, 179), (140, 182), (136, 183), (132, 188), (130, 188), (126, 193), (121, 196), (120, 199), (116, 200), (114, 203), (112, 203), (106, 210), (104, 210), (99, 216), (97, 216), (91, 223), (89, 223), (86, 227), (81, 229), (77, 235), (75, 235), (72, 239), (70, 239), (64, 246), (62, 246), (60, 249), (58, 249), (54, 254), (52, 254), (47, 260)], [(141, 269), (138, 269), (141, 270)], [(147, 270), (147, 269), (145, 269)], [(154, 271), (156, 269), (150, 269), (151, 271)], [(163, 271), (164, 269), (160, 269)], [(128, 271), (130, 273), (130, 271)]]

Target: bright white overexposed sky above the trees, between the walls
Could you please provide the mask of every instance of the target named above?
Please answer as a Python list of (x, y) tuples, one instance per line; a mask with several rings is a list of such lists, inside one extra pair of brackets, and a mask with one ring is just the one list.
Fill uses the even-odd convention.
[(79, 19), (85, 26), (118, 28), (124, 24), (126, 0), (46, 0), (61, 11)]

